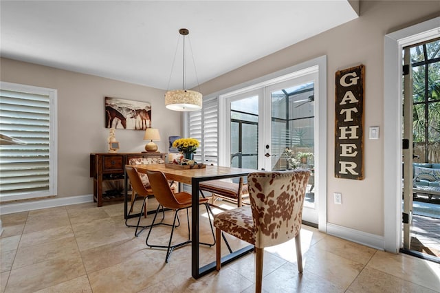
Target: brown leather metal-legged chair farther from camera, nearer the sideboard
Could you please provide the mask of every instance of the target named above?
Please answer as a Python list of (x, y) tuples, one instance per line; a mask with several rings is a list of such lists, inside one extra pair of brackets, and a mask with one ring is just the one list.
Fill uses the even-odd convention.
[[(138, 235), (140, 235), (140, 233), (145, 228), (148, 228), (150, 226), (150, 225), (148, 225), (148, 226), (140, 226), (140, 219), (141, 219), (142, 215), (145, 215), (145, 217), (146, 217), (146, 214), (147, 214), (146, 207), (148, 205), (148, 201), (147, 200), (148, 200), (148, 197), (153, 196), (153, 190), (151, 189), (151, 187), (147, 188), (144, 185), (144, 182), (142, 182), (141, 175), (142, 174), (146, 175), (146, 174), (137, 172), (137, 170), (134, 167), (132, 167), (132, 166), (125, 166), (125, 170), (126, 170), (126, 175), (129, 177), (130, 184), (131, 184), (131, 207), (130, 207), (130, 210), (129, 210), (129, 214), (127, 215), (127, 217), (125, 219), (125, 225), (126, 226), (134, 227), (132, 225), (129, 225), (127, 223), (127, 221), (130, 218), (129, 216), (131, 215), (131, 211), (133, 211), (133, 204), (135, 203), (135, 200), (137, 199), (137, 197), (143, 197), (144, 198), (144, 200), (142, 202), (142, 208), (140, 210), (139, 217), (137, 219), (137, 225), (135, 226), (136, 227), (135, 237), (137, 237)], [(159, 210), (159, 207), (160, 207), (160, 205), (158, 206), (158, 210)], [(142, 213), (142, 212), (144, 212), (144, 213)], [(162, 208), (162, 221), (164, 220), (164, 218), (165, 218), (165, 212), (164, 212), (164, 210)], [(162, 223), (162, 221), (161, 221), (161, 223)], [(151, 225), (153, 225), (153, 224), (151, 224)], [(142, 229), (139, 232), (137, 232), (137, 230), (139, 228), (142, 228)]]

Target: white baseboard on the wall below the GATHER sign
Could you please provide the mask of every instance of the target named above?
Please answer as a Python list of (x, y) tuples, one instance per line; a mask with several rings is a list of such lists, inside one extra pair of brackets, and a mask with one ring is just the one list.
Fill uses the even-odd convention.
[(385, 249), (385, 237), (327, 223), (327, 234), (378, 250)]

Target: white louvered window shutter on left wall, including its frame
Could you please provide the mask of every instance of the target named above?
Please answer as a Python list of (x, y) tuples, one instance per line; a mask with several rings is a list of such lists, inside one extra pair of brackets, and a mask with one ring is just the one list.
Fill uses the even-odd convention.
[(2, 201), (56, 193), (56, 142), (51, 139), (55, 96), (56, 91), (51, 89), (1, 83)]

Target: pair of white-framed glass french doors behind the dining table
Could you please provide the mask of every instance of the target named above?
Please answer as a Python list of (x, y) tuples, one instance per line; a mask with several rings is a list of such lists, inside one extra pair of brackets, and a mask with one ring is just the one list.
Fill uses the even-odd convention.
[[(303, 168), (311, 172), (303, 220), (318, 224), (315, 197), (315, 99), (318, 71), (225, 98), (224, 164), (277, 171)], [(287, 151), (293, 158), (287, 160)], [(301, 158), (301, 155), (305, 155)], [(226, 162), (229, 160), (230, 162)], [(297, 164), (289, 164), (289, 162)]]

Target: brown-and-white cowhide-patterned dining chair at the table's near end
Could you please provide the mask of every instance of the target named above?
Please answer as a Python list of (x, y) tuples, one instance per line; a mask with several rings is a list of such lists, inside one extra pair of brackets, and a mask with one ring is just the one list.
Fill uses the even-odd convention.
[[(216, 237), (224, 231), (251, 243), (256, 252), (256, 288), (263, 282), (264, 248), (295, 239), (298, 271), (303, 272), (300, 228), (309, 171), (256, 172), (248, 175), (250, 206), (214, 215)], [(221, 243), (216, 245), (217, 270), (221, 268)]]

